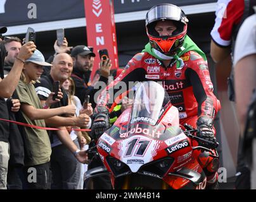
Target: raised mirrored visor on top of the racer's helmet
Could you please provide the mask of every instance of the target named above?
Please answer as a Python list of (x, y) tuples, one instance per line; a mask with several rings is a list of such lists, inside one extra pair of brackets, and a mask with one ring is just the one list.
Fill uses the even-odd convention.
[[(183, 18), (184, 17), (184, 18)], [(160, 4), (148, 11), (146, 15), (146, 25), (157, 20), (175, 20), (186, 23), (186, 16), (182, 10), (172, 4)]]

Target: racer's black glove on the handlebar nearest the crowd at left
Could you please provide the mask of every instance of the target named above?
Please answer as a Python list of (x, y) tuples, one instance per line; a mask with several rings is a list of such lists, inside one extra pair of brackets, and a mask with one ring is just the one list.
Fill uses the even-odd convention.
[(95, 107), (93, 112), (94, 121), (91, 129), (94, 140), (98, 140), (101, 134), (103, 134), (108, 128), (110, 128), (110, 118), (108, 114), (109, 112), (106, 107)]

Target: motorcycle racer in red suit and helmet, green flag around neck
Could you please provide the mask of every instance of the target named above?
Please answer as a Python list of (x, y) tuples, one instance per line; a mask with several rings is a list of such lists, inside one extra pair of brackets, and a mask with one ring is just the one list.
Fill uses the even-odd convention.
[[(113, 106), (108, 102), (108, 92), (113, 90), (118, 97), (119, 91), (114, 87), (121, 81), (129, 86), (129, 81), (151, 80), (162, 83), (167, 90), (170, 101), (179, 110), (181, 124), (198, 128), (200, 138), (216, 141), (213, 122), (221, 105), (213, 92), (206, 56), (186, 35), (187, 26), (186, 15), (173, 4), (158, 4), (148, 11), (146, 32), (150, 42), (99, 95), (92, 128), (96, 138), (110, 127), (108, 113)], [(219, 161), (210, 159), (205, 152), (197, 155), (205, 159), (208, 186), (216, 187)]]

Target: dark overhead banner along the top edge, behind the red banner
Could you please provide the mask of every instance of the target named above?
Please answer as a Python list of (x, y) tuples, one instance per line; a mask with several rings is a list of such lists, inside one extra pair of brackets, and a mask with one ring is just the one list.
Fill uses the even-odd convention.
[[(108, 0), (105, 1), (108, 2)], [(217, 0), (112, 0), (116, 14), (148, 10), (151, 6), (167, 2), (177, 6), (188, 6), (214, 3)], [(0, 26), (9, 27), (75, 18), (84, 18), (84, 0), (0, 1)]]

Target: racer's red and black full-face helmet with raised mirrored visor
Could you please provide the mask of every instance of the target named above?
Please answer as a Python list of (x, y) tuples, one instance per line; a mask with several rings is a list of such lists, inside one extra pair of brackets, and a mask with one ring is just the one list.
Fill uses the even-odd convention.
[[(170, 36), (160, 37), (155, 30), (157, 21), (171, 20), (177, 29)], [(172, 55), (182, 46), (187, 33), (188, 19), (184, 12), (173, 4), (158, 4), (146, 14), (146, 32), (153, 49)]]

